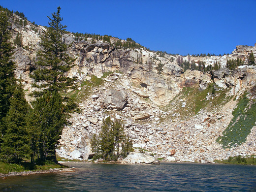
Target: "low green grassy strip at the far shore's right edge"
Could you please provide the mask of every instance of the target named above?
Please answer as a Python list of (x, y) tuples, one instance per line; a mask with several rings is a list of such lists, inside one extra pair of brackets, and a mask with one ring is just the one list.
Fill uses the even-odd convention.
[(256, 158), (254, 156), (251, 157), (229, 157), (228, 160), (215, 160), (217, 163), (224, 164), (256, 164)]

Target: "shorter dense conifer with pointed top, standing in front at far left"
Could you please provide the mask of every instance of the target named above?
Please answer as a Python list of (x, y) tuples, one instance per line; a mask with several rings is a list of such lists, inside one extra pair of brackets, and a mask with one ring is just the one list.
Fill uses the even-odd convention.
[(1, 143), (1, 158), (7, 162), (19, 163), (30, 154), (26, 121), (30, 106), (24, 96), (20, 81), (10, 98), (6, 117), (3, 118), (6, 131)]

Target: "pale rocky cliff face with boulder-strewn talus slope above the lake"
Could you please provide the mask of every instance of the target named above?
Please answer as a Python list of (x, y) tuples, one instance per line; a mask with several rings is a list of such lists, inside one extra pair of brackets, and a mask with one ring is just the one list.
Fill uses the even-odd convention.
[[(13, 60), (17, 64), (16, 76), (23, 79), (26, 93), (32, 91), (29, 74), (37, 67), (34, 59), (44, 30), (31, 23), (24, 27), (12, 25), (13, 41), (18, 33), (22, 34), (23, 48), (14, 49)], [(177, 63), (181, 56), (160, 57), (142, 48), (117, 49), (103, 41), (92, 43), (91, 38), (75, 40), (72, 34), (65, 34), (63, 40), (70, 45), (68, 54), (76, 58), (75, 67), (67, 76), (78, 77), (81, 86), (76, 94), (82, 96), (79, 99), (82, 112), (73, 114), (69, 120), (72, 125), (63, 130), (58, 150), (61, 157), (90, 158), (91, 136), (99, 132), (107, 116), (125, 122), (134, 147), (149, 150), (164, 160), (212, 162), (230, 155), (256, 153), (256, 127), (240, 146), (223, 149), (216, 142), (232, 119), (237, 103), (233, 98), (256, 86), (255, 66), (184, 72)], [(186, 56), (183, 60), (203, 61), (206, 65), (218, 61), (224, 66), (228, 59), (242, 58), (246, 63), (251, 51), (256, 54), (256, 46), (237, 46), (230, 55)], [(102, 81), (88, 89), (83, 82), (93, 82), (94, 76)], [(212, 93), (210, 86), (217, 94)], [(186, 95), (188, 89), (195, 90), (194, 95), (206, 95), (193, 103)], [(225, 102), (220, 99), (227, 97)], [(206, 104), (195, 111), (202, 103)]]

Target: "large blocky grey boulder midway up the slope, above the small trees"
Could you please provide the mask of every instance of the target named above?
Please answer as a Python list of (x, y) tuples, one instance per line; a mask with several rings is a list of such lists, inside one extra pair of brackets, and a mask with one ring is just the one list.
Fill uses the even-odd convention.
[(122, 110), (127, 103), (127, 92), (114, 89), (108, 90), (103, 105), (108, 109)]

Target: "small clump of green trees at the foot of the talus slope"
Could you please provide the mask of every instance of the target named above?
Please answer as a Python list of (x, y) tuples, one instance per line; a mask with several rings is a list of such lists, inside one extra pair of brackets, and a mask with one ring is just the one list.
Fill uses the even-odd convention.
[(126, 157), (132, 151), (132, 142), (124, 133), (121, 121), (111, 121), (107, 117), (103, 121), (99, 138), (96, 135), (91, 140), (94, 159), (117, 160), (120, 155)]

